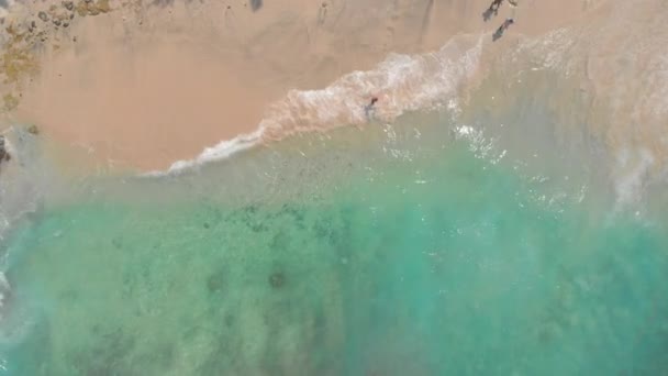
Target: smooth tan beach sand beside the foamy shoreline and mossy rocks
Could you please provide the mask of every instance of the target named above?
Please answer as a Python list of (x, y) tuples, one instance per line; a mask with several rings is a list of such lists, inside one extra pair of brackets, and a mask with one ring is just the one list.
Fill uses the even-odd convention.
[[(255, 10), (257, 0), (111, 1), (110, 12), (74, 11), (68, 27), (44, 29), (40, 73), (4, 89), (20, 92), (13, 120), (99, 161), (165, 168), (254, 131), (289, 89), (325, 87), (390, 52), (437, 49), (457, 33), (491, 33), (505, 16), (516, 20), (509, 34), (541, 34), (603, 1), (520, 0), (487, 23), (488, 0), (266, 0)], [(34, 7), (14, 19), (41, 22), (46, 5)]]

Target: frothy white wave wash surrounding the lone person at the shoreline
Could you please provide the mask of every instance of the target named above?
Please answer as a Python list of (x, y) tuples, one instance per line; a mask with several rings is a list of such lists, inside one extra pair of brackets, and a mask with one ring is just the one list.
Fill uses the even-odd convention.
[[(482, 36), (460, 35), (434, 53), (391, 54), (375, 69), (353, 71), (321, 90), (291, 90), (269, 108), (257, 131), (208, 147), (193, 159), (175, 162), (165, 172), (143, 176), (178, 174), (227, 158), (263, 141), (299, 132), (326, 131), (376, 119), (392, 121), (407, 111), (423, 109), (456, 111), (457, 90), (476, 71), (482, 41)], [(380, 101), (372, 111), (365, 111), (372, 96)]]

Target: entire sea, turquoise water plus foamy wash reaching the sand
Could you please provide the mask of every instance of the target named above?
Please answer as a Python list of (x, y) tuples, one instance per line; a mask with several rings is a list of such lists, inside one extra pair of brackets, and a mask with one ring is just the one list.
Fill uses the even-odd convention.
[(665, 5), (610, 9), (290, 91), (165, 174), (14, 132), (0, 374), (665, 375)]

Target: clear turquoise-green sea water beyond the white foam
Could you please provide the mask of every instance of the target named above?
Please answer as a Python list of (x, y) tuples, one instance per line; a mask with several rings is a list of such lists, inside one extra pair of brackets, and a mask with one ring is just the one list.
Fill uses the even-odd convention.
[(431, 121), (46, 206), (5, 374), (665, 373), (665, 226)]

